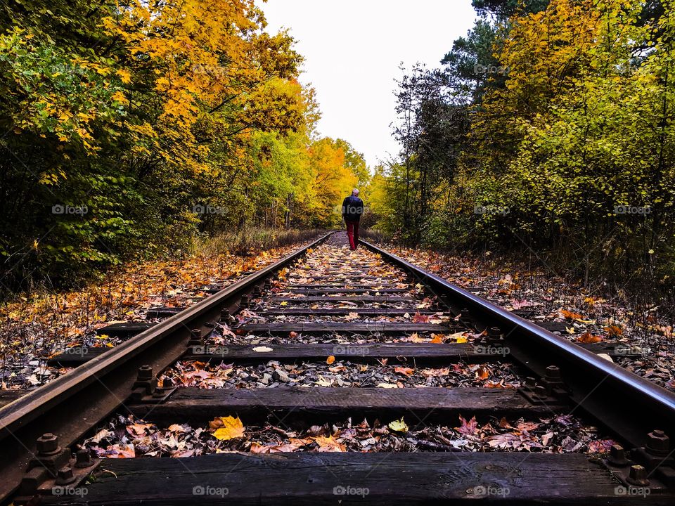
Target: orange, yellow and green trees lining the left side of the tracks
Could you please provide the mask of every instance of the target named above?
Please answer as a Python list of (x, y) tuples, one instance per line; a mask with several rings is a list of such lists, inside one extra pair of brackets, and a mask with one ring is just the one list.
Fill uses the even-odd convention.
[(0, 6), (0, 277), (70, 283), (241, 228), (330, 226), (362, 155), (314, 136), (254, 0)]

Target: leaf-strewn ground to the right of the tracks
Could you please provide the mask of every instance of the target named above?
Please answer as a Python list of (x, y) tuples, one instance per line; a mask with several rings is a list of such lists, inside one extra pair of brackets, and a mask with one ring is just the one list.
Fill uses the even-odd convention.
[(661, 387), (675, 390), (673, 323), (657, 306), (638, 309), (621, 291), (589, 293), (545, 269), (503, 259), (457, 257), (383, 245), (451, 283), (534, 323), (558, 322), (572, 342), (621, 344), (626, 356), (614, 360)]

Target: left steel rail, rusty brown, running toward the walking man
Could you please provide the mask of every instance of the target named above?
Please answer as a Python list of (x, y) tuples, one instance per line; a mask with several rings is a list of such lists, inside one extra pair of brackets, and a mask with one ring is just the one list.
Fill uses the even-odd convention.
[(56, 434), (61, 447), (77, 442), (103, 418), (124, 406), (141, 365), (151, 365), (155, 372), (167, 368), (187, 351), (193, 327), (217, 321), (221, 309), (236, 307), (238, 297), (248, 294), (332, 233), (0, 408), (0, 501), (18, 488), (28, 462), (37, 455), (36, 441), (41, 434)]

